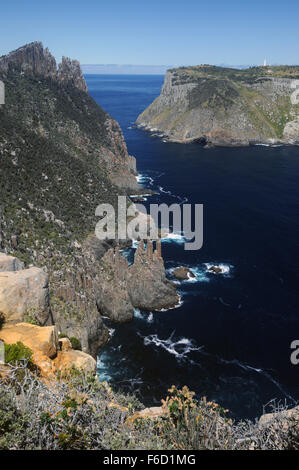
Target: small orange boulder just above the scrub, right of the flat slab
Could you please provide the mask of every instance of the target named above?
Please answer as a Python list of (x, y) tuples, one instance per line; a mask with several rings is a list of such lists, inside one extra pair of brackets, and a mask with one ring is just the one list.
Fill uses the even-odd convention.
[(62, 375), (66, 375), (73, 366), (87, 372), (95, 372), (96, 360), (83, 351), (58, 351), (57, 357), (53, 361), (54, 367)]

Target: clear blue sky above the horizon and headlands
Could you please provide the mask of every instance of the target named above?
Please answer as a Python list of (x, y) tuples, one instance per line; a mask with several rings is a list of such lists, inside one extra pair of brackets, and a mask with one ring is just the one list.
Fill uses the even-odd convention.
[(299, 63), (299, 0), (1, 3), (0, 55), (41, 40), (82, 64)]

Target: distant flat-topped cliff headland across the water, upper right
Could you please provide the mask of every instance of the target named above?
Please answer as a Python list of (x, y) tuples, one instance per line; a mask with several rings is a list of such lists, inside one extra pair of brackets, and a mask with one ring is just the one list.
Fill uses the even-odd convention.
[(177, 142), (299, 143), (299, 67), (169, 70), (137, 123)]

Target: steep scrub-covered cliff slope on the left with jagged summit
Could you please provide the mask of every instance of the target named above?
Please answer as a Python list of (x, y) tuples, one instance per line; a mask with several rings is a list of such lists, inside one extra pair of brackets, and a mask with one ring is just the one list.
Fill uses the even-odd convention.
[[(84, 249), (100, 203), (138, 192), (119, 125), (88, 95), (77, 61), (41, 43), (0, 58), (0, 251), (49, 272), (60, 331), (95, 352), (107, 339)], [(105, 250), (104, 250), (105, 251)]]

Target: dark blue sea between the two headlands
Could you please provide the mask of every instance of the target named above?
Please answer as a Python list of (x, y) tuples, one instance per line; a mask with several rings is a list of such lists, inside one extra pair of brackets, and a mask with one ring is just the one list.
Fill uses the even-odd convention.
[[(204, 205), (204, 243), (185, 251), (163, 243), (165, 266), (186, 265), (195, 282), (178, 285), (182, 304), (110, 324), (99, 373), (114, 388), (159, 404), (172, 385), (188, 385), (253, 418), (273, 399), (299, 399), (299, 147), (215, 148), (163, 142), (134, 128), (158, 96), (162, 76), (87, 75), (91, 96), (121, 125), (137, 158), (149, 202)], [(207, 272), (220, 264), (224, 274)], [(269, 405), (267, 405), (269, 404)]]

